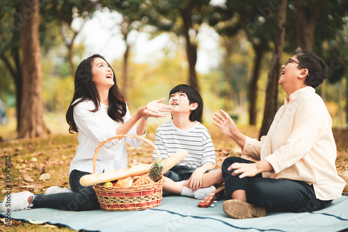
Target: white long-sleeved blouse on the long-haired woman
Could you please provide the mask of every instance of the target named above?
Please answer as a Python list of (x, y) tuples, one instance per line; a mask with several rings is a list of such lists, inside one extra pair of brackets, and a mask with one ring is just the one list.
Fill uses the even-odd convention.
[[(108, 106), (101, 103), (97, 112), (93, 113), (90, 111), (94, 109), (93, 101), (83, 101), (74, 107), (73, 115), (79, 131), (79, 146), (74, 159), (70, 163), (69, 173), (73, 169), (92, 173), (95, 149), (100, 142), (116, 136), (116, 129), (122, 125), (121, 122), (115, 122), (109, 117), (107, 114)], [(127, 122), (130, 117), (127, 107), (127, 113), (123, 119)], [(136, 135), (136, 126), (133, 126), (128, 134)], [(142, 135), (142, 137), (144, 136), (145, 134)], [(142, 140), (122, 138), (121, 140), (106, 142), (98, 152), (95, 172), (100, 174), (113, 169), (127, 167), (126, 142), (133, 147), (139, 147)]]

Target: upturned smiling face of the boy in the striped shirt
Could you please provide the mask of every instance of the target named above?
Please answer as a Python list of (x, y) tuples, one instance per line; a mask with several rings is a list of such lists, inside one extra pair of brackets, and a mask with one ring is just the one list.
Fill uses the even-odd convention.
[(187, 94), (184, 92), (175, 92), (171, 94), (168, 101), (169, 106), (173, 106), (172, 109), (172, 115), (173, 113), (191, 113), (192, 110), (196, 110), (198, 103), (191, 103), (189, 101), (189, 98), (187, 97)]

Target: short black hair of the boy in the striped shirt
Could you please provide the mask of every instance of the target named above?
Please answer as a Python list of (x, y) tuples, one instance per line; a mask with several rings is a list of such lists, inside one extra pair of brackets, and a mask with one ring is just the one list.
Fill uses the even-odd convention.
[(200, 97), (199, 92), (197, 92), (195, 89), (193, 89), (189, 85), (176, 85), (171, 92), (169, 92), (169, 98), (171, 98), (171, 94), (174, 94), (175, 92), (183, 92), (187, 94), (187, 98), (189, 99), (189, 103), (198, 103), (198, 106), (196, 110), (192, 110), (190, 114), (190, 121), (191, 122), (201, 122), (202, 115), (203, 115), (203, 99)]

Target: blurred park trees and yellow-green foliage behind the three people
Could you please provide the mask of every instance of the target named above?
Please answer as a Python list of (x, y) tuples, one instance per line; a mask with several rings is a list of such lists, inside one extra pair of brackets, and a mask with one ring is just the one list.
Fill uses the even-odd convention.
[(74, 70), (93, 53), (111, 63), (131, 113), (187, 83), (203, 96), (204, 124), (223, 109), (263, 135), (285, 97), (280, 65), (296, 47), (309, 49), (330, 67), (317, 93), (333, 126), (347, 126), (347, 1), (34, 3), (0, 3), (3, 140), (67, 133)]

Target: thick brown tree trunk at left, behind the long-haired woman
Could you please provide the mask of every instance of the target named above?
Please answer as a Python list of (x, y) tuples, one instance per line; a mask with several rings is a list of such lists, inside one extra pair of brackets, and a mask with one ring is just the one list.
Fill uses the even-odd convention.
[(33, 138), (47, 133), (42, 106), (39, 0), (22, 1), (22, 20), (23, 95), (18, 138)]

